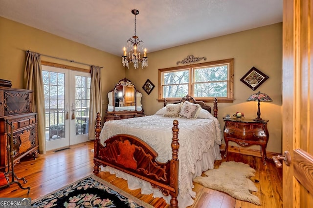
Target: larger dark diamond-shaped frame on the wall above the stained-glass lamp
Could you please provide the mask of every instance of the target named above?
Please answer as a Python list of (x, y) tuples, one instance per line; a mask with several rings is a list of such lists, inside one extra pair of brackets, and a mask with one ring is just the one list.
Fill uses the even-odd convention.
[(244, 82), (246, 86), (252, 90), (256, 90), (265, 80), (268, 79), (268, 76), (257, 68), (252, 67), (245, 76), (243, 76), (240, 81)]

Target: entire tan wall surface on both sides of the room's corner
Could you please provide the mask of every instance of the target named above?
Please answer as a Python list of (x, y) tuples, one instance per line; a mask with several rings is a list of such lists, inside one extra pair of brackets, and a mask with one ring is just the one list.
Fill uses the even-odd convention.
[[(245, 113), (247, 118), (256, 117), (257, 103), (246, 102), (246, 99), (260, 90), (273, 100), (270, 103), (263, 102), (260, 106), (261, 117), (269, 119), (270, 136), (267, 150), (281, 152), (282, 23), (148, 53), (149, 66), (143, 70), (140, 67), (134, 70), (131, 65), (130, 69), (124, 70), (120, 57), (1, 17), (0, 31), (0, 78), (12, 80), (14, 88), (23, 87), (25, 51), (28, 49), (49, 56), (103, 66), (102, 104), (104, 111), (108, 104), (107, 93), (113, 89), (115, 83), (124, 77), (130, 79), (137, 90), (142, 93), (144, 111), (147, 115), (151, 115), (163, 106), (163, 103), (157, 102), (158, 69), (175, 67), (177, 61), (188, 55), (207, 57), (206, 61), (234, 58), (235, 101), (219, 103), (221, 127), (224, 128), (222, 117), (225, 114), (240, 111)], [(88, 66), (44, 56), (42, 60), (88, 68)], [(256, 91), (252, 91), (240, 81), (240, 78), (253, 66), (269, 76), (268, 80)], [(150, 95), (147, 95), (142, 89), (147, 78), (156, 85)], [(259, 149), (259, 147), (252, 148)]]

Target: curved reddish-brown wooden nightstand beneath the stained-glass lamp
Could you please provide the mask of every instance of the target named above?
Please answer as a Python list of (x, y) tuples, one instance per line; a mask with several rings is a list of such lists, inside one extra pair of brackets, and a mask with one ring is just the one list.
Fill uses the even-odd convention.
[(266, 147), (268, 145), (268, 120), (254, 121), (248, 118), (229, 118), (224, 119), (224, 139), (225, 139), (225, 154), (228, 151), (228, 141), (233, 141), (242, 147), (251, 145), (261, 146), (261, 156), (263, 164), (266, 165)]

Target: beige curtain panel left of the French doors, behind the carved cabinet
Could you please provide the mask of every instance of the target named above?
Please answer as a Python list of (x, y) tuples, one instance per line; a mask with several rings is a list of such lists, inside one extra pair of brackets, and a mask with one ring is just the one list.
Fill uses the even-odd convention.
[(26, 51), (24, 88), (34, 91), (34, 112), (38, 113), (39, 153), (45, 154), (45, 97), (40, 54)]

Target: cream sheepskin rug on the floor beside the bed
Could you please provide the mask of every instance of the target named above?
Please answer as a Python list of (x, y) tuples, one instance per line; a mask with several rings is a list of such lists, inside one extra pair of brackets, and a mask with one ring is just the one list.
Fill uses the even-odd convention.
[(258, 191), (249, 177), (254, 177), (255, 170), (248, 164), (234, 161), (223, 162), (219, 169), (207, 170), (206, 177), (196, 177), (194, 182), (209, 189), (225, 192), (235, 199), (261, 205), (257, 196), (250, 191)]

